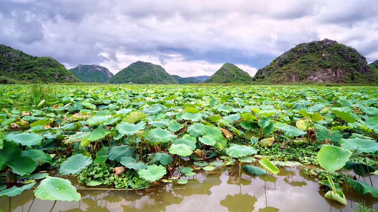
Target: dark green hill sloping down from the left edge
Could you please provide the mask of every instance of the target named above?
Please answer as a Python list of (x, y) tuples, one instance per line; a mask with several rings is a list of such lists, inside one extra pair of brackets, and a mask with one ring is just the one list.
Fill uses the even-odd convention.
[(34, 57), (5, 45), (0, 45), (0, 76), (45, 83), (80, 81), (54, 58)]

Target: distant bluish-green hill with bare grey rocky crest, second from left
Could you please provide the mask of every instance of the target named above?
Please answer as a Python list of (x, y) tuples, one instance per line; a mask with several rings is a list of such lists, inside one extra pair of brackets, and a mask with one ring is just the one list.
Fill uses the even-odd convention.
[(98, 65), (80, 64), (68, 71), (85, 83), (106, 83), (114, 76), (109, 69)]

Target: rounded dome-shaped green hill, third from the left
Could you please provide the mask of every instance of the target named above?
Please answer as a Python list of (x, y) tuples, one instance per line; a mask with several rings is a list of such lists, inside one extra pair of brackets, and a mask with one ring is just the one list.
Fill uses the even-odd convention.
[(169, 75), (160, 65), (137, 61), (119, 71), (109, 83), (137, 84), (177, 84), (177, 80)]

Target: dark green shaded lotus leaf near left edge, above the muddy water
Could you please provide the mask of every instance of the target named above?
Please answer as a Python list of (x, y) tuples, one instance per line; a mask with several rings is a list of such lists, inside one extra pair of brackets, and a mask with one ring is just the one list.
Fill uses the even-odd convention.
[(12, 168), (12, 172), (18, 175), (30, 175), (38, 163), (29, 157), (14, 157), (9, 161), (8, 166)]

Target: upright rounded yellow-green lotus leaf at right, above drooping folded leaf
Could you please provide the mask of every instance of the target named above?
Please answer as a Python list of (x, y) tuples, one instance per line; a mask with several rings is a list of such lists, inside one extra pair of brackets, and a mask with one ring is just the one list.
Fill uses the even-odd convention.
[(334, 172), (345, 166), (352, 152), (341, 147), (323, 145), (318, 152), (318, 163), (327, 171)]

